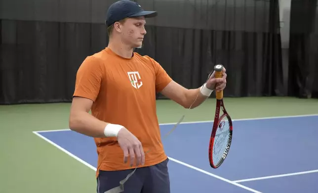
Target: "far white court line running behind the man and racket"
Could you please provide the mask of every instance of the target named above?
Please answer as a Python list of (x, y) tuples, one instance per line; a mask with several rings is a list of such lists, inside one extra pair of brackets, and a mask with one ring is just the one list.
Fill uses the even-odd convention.
[[(290, 116), (278, 116), (278, 117), (260, 117), (260, 118), (249, 118), (249, 119), (233, 119), (232, 121), (250, 121), (250, 120), (263, 120), (263, 119), (284, 119), (284, 118), (296, 118), (296, 117), (313, 117), (318, 114), (309, 115), (290, 115)], [(180, 124), (196, 124), (196, 123), (213, 123), (213, 121), (190, 121), (181, 122)], [(161, 123), (160, 126), (175, 125), (176, 123)], [(55, 129), (55, 130), (38, 130), (37, 132), (54, 132), (54, 131), (67, 131), (71, 129)]]

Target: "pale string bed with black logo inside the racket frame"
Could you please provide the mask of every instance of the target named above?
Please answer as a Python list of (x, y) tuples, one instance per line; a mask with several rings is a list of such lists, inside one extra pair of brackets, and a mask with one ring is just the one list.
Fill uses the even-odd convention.
[(214, 137), (214, 145), (213, 145), (213, 163), (216, 165), (219, 161), (222, 160), (223, 154), (227, 149), (229, 140), (230, 140), (230, 121), (227, 117), (224, 117), (218, 129), (216, 129), (215, 137)]

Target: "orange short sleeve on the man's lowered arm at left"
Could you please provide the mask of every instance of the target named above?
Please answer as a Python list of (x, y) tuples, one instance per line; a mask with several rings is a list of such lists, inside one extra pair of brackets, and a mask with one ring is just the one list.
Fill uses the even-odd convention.
[(102, 82), (102, 72), (100, 60), (93, 56), (87, 57), (77, 71), (73, 96), (81, 96), (95, 101)]

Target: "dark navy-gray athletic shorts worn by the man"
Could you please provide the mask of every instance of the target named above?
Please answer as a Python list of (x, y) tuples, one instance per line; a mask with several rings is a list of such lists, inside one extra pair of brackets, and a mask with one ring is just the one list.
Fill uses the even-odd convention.
[[(135, 173), (124, 183), (123, 193), (170, 193), (167, 163), (168, 159), (156, 165), (137, 168)], [(119, 186), (119, 181), (133, 170), (100, 170), (97, 178), (97, 193), (105, 193)]]

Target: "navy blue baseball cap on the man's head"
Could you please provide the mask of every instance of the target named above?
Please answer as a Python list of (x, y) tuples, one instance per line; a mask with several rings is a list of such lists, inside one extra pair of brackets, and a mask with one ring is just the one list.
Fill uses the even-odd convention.
[(115, 22), (118, 22), (127, 17), (156, 17), (158, 13), (156, 11), (145, 11), (141, 6), (131, 0), (119, 0), (113, 3), (107, 11), (106, 26), (109, 27)]

